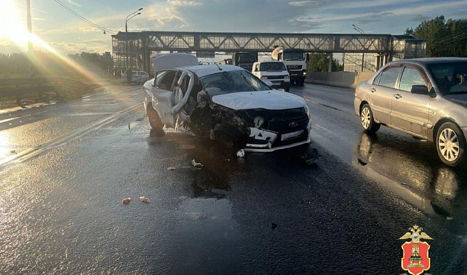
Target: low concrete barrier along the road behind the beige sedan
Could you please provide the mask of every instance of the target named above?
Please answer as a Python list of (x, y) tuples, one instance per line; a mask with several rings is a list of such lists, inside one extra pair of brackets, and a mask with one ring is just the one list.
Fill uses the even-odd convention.
[(356, 88), (358, 83), (366, 81), (374, 75), (373, 72), (310, 72), (306, 75), (307, 83)]

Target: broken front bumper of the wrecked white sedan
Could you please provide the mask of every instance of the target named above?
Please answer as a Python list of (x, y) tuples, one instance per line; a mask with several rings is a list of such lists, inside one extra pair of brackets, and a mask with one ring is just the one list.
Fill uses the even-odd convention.
[[(297, 134), (296, 137), (292, 135), (290, 138), (287, 138), (286, 136), (287, 134), (298, 133), (299, 131), (304, 131), (304, 133), (299, 133)], [(306, 129), (298, 130), (293, 133), (285, 133), (282, 135), (280, 133), (275, 133), (272, 131), (267, 131), (267, 130), (258, 129), (258, 128), (251, 128), (250, 138), (248, 140), (248, 143), (246, 144), (246, 148), (244, 148), (243, 150), (245, 150), (245, 152), (267, 153), (267, 152), (273, 152), (275, 150), (292, 148), (292, 147), (299, 146), (302, 144), (308, 144), (311, 141), (310, 132), (311, 132), (311, 120), (308, 122)], [(303, 137), (303, 135), (306, 135), (306, 140), (303, 140), (300, 138), (300, 137)], [(285, 139), (284, 139), (284, 136), (285, 136)], [(298, 141), (293, 142), (294, 139), (297, 139)], [(284, 143), (284, 145), (280, 145), (281, 143)]]

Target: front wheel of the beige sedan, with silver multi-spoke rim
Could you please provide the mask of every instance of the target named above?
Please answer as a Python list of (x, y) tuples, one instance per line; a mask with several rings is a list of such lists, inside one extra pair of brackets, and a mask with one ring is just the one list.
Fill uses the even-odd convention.
[(446, 122), (436, 133), (438, 157), (447, 166), (455, 167), (466, 163), (466, 137), (453, 122)]

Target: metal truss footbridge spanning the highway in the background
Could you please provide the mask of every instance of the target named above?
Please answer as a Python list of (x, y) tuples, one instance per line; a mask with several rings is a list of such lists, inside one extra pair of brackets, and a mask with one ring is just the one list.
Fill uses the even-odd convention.
[[(127, 37), (127, 38), (125, 38)], [(125, 47), (125, 41), (128, 46)], [(157, 51), (196, 52), (208, 57), (216, 52), (271, 52), (276, 46), (310, 53), (377, 53), (384, 62), (392, 55), (390, 34), (258, 34), (224, 32), (142, 31), (112, 36), (114, 64), (150, 71), (150, 55)], [(128, 49), (128, 51), (126, 51)], [(204, 56), (203, 56), (204, 55)], [(128, 57), (126, 57), (128, 56)]]

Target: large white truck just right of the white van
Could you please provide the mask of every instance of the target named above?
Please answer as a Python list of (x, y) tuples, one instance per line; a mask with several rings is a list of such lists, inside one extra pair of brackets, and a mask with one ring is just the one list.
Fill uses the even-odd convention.
[(303, 86), (306, 78), (306, 62), (308, 55), (302, 49), (284, 49), (276, 47), (271, 54), (272, 60), (284, 62), (290, 75), (290, 82)]

